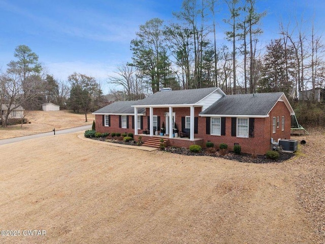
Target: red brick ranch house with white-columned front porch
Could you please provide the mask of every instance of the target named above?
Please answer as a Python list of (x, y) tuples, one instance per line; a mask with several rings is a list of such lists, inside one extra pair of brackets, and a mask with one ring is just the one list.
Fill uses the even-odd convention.
[[(93, 114), (96, 131), (102, 133), (134, 133), (145, 142), (160, 137), (155, 130), (164, 129), (171, 145), (205, 146), (211, 141), (233, 150), (239, 144), (243, 153), (264, 155), (271, 141), (290, 139), (295, 112), (284, 93), (225, 95), (210, 87), (160, 91), (138, 101), (115, 102)], [(175, 124), (178, 135), (188, 133), (186, 138), (174, 137)]]

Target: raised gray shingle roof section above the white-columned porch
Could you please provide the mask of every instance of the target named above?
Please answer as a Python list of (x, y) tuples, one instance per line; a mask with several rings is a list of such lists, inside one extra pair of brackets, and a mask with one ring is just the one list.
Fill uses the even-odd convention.
[(134, 105), (166, 105), (166, 104), (194, 104), (216, 90), (217, 87), (170, 90), (157, 92)]

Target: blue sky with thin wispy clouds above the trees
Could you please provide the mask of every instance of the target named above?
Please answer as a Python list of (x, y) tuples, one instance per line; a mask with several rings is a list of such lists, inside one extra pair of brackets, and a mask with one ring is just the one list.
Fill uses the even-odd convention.
[[(222, 2), (220, 0), (219, 2)], [(261, 41), (278, 37), (279, 21), (294, 24), (302, 16), (310, 30), (314, 21), (318, 35), (325, 29), (324, 0), (256, 0), (263, 19)], [(181, 0), (0, 0), (0, 68), (14, 59), (14, 49), (27, 45), (39, 55), (49, 74), (67, 80), (73, 72), (100, 80), (107, 93), (108, 76), (116, 66), (130, 62), (130, 42), (139, 25), (152, 18), (168, 22), (172, 12), (181, 8)], [(224, 5), (219, 6), (217, 21), (219, 43), (223, 40), (228, 18)], [(306, 25), (307, 26), (307, 25)]]

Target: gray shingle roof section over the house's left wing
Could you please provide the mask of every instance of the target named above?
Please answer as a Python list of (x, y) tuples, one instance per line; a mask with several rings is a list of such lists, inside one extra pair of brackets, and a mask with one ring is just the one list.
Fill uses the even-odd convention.
[[(107, 105), (93, 113), (113, 113), (113, 114), (134, 114), (134, 107), (131, 107), (134, 104), (137, 104), (138, 101), (121, 101), (114, 102), (110, 105)], [(138, 113), (144, 113), (145, 108), (139, 108)]]

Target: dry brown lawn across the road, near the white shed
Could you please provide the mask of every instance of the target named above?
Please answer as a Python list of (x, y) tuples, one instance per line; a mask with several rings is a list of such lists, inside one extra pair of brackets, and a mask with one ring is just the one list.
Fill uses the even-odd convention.
[(19, 136), (39, 134), (42, 132), (68, 129), (72, 127), (85, 126), (92, 124), (95, 119), (93, 114), (87, 114), (88, 122), (85, 123), (85, 115), (77, 114), (67, 110), (61, 111), (29, 111), (26, 115), (30, 124), (0, 126), (0, 139), (7, 139)]

